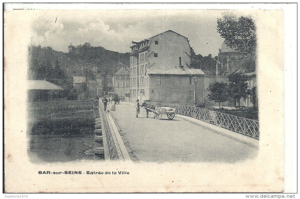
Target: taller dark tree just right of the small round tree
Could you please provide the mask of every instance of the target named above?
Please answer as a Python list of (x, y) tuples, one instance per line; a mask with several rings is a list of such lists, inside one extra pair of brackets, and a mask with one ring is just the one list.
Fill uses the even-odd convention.
[(232, 73), (228, 77), (229, 79), (229, 95), (233, 98), (234, 104), (236, 106), (236, 101), (238, 101), (238, 106), (240, 105), (240, 99), (246, 98), (249, 93), (248, 89), (248, 76), (241, 73)]

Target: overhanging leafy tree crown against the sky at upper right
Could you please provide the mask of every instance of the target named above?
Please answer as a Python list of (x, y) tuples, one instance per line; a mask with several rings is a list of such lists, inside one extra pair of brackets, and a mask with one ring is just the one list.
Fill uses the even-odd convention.
[(223, 16), (217, 19), (217, 31), (227, 46), (248, 53), (256, 49), (256, 26), (250, 17)]

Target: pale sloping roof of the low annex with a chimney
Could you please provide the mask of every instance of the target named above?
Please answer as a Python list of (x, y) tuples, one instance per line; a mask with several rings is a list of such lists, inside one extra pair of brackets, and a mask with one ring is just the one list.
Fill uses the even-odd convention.
[(205, 75), (201, 69), (184, 69), (179, 68), (147, 68), (148, 74), (161, 75)]

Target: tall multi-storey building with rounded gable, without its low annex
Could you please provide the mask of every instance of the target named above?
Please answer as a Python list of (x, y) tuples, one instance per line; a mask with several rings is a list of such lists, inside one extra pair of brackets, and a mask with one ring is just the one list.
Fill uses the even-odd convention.
[[(146, 82), (151, 69), (190, 68), (190, 44), (186, 37), (168, 30), (140, 42), (132, 42), (130, 53), (130, 96), (132, 100), (145, 98)], [(171, 75), (171, 74), (170, 74)], [(150, 74), (151, 76), (151, 74)], [(149, 86), (147, 87), (149, 89)], [(146, 98), (145, 98), (146, 99)]]

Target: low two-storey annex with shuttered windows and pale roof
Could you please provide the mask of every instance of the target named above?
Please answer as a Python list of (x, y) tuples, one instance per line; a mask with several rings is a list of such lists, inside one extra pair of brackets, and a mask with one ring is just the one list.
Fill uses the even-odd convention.
[[(197, 78), (196, 90), (194, 77)], [(139, 100), (194, 106), (203, 104), (204, 73), (201, 69), (149, 68), (140, 90)], [(196, 93), (195, 93), (196, 92)], [(196, 94), (196, 98), (195, 98)]]

